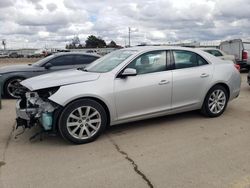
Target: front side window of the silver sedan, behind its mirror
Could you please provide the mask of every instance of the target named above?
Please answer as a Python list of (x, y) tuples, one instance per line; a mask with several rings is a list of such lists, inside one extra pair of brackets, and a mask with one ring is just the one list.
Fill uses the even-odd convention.
[(134, 68), (137, 74), (147, 74), (166, 70), (166, 51), (155, 51), (141, 55), (127, 68)]

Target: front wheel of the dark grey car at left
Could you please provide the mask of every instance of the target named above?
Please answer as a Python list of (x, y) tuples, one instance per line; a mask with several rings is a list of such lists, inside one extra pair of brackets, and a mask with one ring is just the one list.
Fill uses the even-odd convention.
[(24, 78), (21, 77), (15, 77), (7, 80), (4, 84), (4, 95), (8, 98), (20, 98), (20, 91), (23, 89), (20, 82), (23, 80)]

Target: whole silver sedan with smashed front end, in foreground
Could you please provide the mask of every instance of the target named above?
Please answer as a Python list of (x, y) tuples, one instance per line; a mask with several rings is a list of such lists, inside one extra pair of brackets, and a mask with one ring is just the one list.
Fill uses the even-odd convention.
[[(233, 64), (181, 47), (117, 50), (86, 69), (60, 71), (21, 82), (17, 125), (41, 125), (66, 140), (95, 140), (108, 125), (200, 110), (220, 116), (238, 97)], [(28, 113), (28, 114), (27, 114)]]

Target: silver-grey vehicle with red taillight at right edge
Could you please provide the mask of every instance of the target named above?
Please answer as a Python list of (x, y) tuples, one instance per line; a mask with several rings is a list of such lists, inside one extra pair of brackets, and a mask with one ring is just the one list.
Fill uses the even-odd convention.
[(235, 56), (236, 63), (242, 68), (250, 68), (250, 41), (234, 39), (221, 42), (219, 48)]

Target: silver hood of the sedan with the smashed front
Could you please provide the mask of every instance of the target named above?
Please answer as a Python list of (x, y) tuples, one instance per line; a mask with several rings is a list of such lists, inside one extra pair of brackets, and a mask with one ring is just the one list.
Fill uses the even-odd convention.
[(21, 84), (30, 91), (97, 80), (100, 73), (70, 69), (43, 74), (24, 80)]

